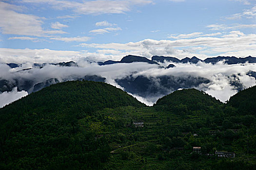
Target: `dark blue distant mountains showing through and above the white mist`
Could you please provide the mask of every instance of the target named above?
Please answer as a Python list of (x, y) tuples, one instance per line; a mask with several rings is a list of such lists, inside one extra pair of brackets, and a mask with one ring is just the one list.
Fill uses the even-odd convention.
[[(169, 64), (167, 67), (163, 67), (161, 63), (173, 62), (173, 64)], [(224, 63), (231, 65), (231, 64), (243, 64), (243, 63), (256, 63), (256, 57), (248, 56), (246, 58), (236, 58), (236, 57), (214, 57), (214, 58), (207, 58), (205, 60), (200, 60), (197, 57), (192, 58), (183, 58), (181, 60), (175, 57), (165, 57), (165, 56), (153, 56), (151, 60), (147, 59), (146, 57), (140, 57), (135, 55), (127, 55), (123, 57), (120, 61), (112, 61), (108, 60), (105, 62), (98, 62), (99, 66), (104, 65), (114, 65), (117, 63), (133, 63), (133, 62), (144, 62), (152, 65), (157, 65), (158, 68), (166, 68), (166, 69), (173, 69), (175, 68), (176, 63), (212, 63), (216, 64), (219, 61), (224, 61)], [(8, 63), (7, 64), (10, 68), (19, 68), (21, 65), (16, 63)], [(20, 77), (19, 74), (23, 71), (29, 71), (33, 68), (41, 68), (45, 67), (46, 65), (55, 65), (59, 67), (79, 67), (78, 63), (73, 61), (70, 62), (62, 62), (62, 63), (43, 63), (33, 64), (32, 68), (24, 68), (17, 72), (13, 72), (14, 75), (12, 79), (0, 79), (0, 92), (4, 91), (12, 91), (14, 87), (17, 87), (18, 91), (25, 90), (29, 94), (32, 92), (39, 91), (40, 89), (47, 87), (49, 85), (53, 85), (60, 82), (66, 82), (71, 80), (89, 80), (95, 82), (105, 82), (106, 77), (101, 77), (99, 75), (84, 73), (84, 75), (72, 75), (67, 76), (65, 78), (57, 79), (54, 75), (47, 76), (48, 78), (45, 80), (38, 81), (35, 78), (28, 78), (28, 77)], [(111, 66), (109, 66), (111, 67)], [(24, 72), (25, 73), (25, 72)], [(118, 85), (124, 88), (125, 91), (141, 96), (143, 98), (151, 98), (151, 101), (156, 101), (159, 97), (169, 94), (172, 91), (176, 91), (180, 88), (194, 88), (200, 85), (206, 85), (211, 83), (211, 81), (207, 78), (200, 77), (197, 75), (186, 75), (186, 76), (176, 76), (176, 75), (161, 75), (161, 76), (145, 76), (145, 75), (137, 75), (137, 72), (133, 72), (130, 75), (125, 77), (119, 77), (113, 80)], [(117, 73), (118, 74), (118, 73)], [(246, 74), (250, 77), (254, 77), (256, 79), (256, 71), (255, 70), (247, 70)], [(235, 87), (237, 91), (244, 88), (243, 84), (239, 80), (239, 76), (233, 74), (226, 76), (226, 79), (229, 81), (229, 84)]]

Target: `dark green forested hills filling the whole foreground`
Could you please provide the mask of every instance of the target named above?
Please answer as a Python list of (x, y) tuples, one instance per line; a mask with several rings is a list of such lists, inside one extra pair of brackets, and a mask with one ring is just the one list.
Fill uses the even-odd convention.
[(226, 104), (184, 89), (148, 107), (105, 83), (51, 85), (0, 109), (0, 169), (253, 170), (255, 103), (256, 86)]

